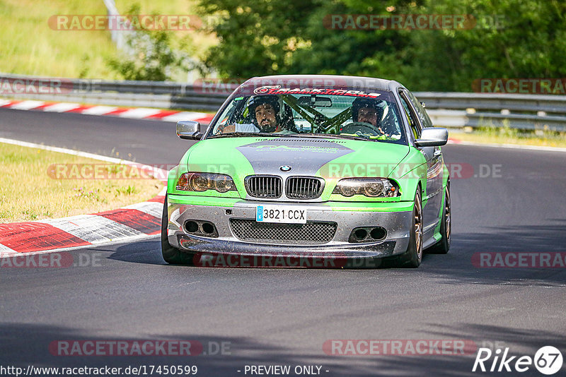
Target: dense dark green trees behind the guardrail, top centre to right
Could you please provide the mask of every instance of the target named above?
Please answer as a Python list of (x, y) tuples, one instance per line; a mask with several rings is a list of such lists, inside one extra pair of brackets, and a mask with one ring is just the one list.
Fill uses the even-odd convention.
[[(218, 16), (205, 64), (221, 76), (330, 73), (399, 80), (412, 90), (470, 91), (478, 78), (566, 73), (560, 0), (201, 0)], [(329, 28), (330, 15), (471, 15), (439, 30)], [(446, 26), (446, 25), (444, 25)], [(473, 26), (473, 27), (472, 27)]]

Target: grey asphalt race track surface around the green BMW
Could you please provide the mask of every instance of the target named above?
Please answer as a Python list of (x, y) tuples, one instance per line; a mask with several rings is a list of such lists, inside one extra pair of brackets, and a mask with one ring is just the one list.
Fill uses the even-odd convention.
[[(172, 123), (8, 109), (0, 109), (0, 137), (146, 164), (174, 164), (188, 145)], [(482, 251), (566, 252), (566, 153), (443, 150), (447, 162), (488, 175), (452, 180), (448, 255), (427, 254), (415, 270), (188, 268), (166, 265), (151, 239), (71, 251), (83, 266), (0, 268), (0, 365), (179, 364), (196, 365), (197, 376), (250, 376), (246, 365), (272, 364), (291, 372), (318, 365), (323, 376), (479, 374), (471, 372), (475, 352), (329, 356), (326, 340), (473, 340), (531, 357), (552, 345), (566, 359), (566, 268), (472, 263)], [(487, 174), (493, 164), (496, 174)], [(210, 349), (70, 357), (50, 353), (57, 340), (197, 340)], [(229, 342), (229, 354), (210, 355), (215, 342)], [(565, 371), (566, 363), (556, 376)], [(542, 376), (533, 366), (520, 374)]]

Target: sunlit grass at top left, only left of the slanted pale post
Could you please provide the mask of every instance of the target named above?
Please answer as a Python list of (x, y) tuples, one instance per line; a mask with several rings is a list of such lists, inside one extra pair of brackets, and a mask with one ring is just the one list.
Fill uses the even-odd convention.
[(35, 76), (113, 78), (105, 59), (115, 56), (110, 33), (52, 30), (50, 16), (105, 14), (102, 1), (0, 2), (0, 71)]

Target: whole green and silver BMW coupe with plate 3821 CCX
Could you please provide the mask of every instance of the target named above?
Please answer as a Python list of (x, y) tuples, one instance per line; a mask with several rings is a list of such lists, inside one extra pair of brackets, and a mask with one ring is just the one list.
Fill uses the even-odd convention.
[(168, 263), (415, 268), (449, 250), (448, 131), (400, 83), (252, 78), (177, 134), (198, 141), (168, 176)]

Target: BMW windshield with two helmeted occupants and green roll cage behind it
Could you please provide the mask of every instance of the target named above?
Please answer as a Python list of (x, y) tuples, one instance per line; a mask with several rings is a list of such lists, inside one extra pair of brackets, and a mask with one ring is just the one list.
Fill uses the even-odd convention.
[(209, 128), (207, 138), (332, 135), (406, 144), (391, 92), (357, 96), (347, 95), (347, 90), (312, 91), (234, 97)]

